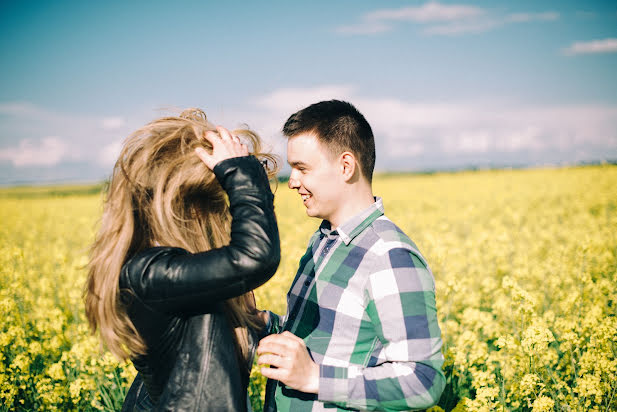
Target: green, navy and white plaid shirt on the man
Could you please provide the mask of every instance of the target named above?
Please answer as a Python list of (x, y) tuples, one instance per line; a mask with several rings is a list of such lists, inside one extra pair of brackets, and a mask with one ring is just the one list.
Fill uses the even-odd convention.
[(320, 379), (318, 395), (269, 382), (266, 410), (422, 409), (445, 386), (433, 275), (380, 198), (335, 230), (323, 221), (271, 324), (304, 339)]

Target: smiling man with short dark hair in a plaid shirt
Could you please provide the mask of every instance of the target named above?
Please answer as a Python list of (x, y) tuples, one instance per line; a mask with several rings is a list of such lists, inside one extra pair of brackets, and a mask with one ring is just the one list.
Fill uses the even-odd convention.
[[(285, 123), (289, 187), (323, 222), (257, 348), (267, 411), (427, 408), (445, 386), (434, 279), (373, 196), (375, 142), (351, 104)], [(277, 382), (278, 381), (278, 382)]]

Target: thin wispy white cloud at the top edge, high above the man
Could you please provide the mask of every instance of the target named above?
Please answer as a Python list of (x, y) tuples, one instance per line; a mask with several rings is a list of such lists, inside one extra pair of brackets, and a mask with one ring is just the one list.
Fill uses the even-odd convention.
[(336, 32), (376, 34), (394, 29), (396, 22), (411, 22), (421, 25), (426, 35), (457, 36), (482, 33), (507, 24), (554, 21), (559, 17), (559, 13), (552, 11), (499, 15), (477, 6), (430, 1), (417, 7), (375, 10), (366, 13), (356, 24), (338, 27)]

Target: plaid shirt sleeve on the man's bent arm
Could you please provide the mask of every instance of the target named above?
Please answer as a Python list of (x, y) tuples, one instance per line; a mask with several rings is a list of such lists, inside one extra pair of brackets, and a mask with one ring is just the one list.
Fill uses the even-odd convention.
[(445, 387), (433, 275), (404, 248), (390, 250), (379, 266), (365, 287), (365, 310), (382, 345), (375, 365), (320, 365), (318, 398), (364, 410), (425, 409)]

